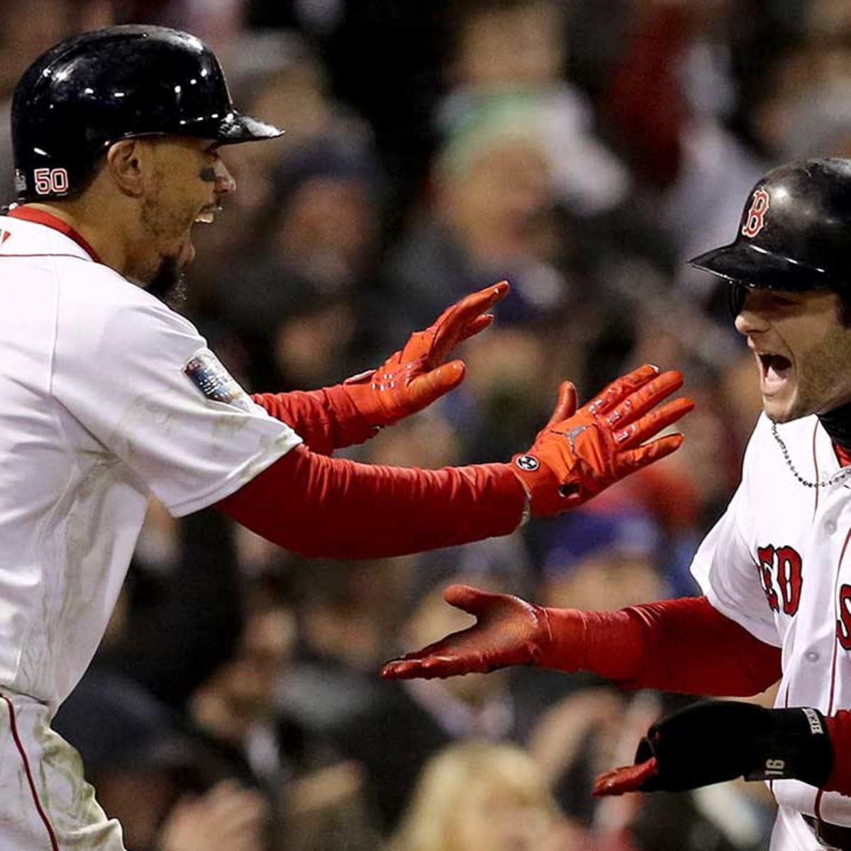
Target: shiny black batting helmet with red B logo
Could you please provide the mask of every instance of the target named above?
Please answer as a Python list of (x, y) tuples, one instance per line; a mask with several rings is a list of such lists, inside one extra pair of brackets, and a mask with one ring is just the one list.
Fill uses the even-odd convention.
[(735, 312), (743, 288), (851, 295), (851, 160), (802, 160), (769, 171), (751, 189), (734, 241), (688, 262), (734, 285)]

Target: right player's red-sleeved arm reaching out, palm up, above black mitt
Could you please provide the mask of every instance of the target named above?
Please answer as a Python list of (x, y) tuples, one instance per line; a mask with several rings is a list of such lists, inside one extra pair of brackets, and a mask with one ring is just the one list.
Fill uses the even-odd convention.
[(592, 671), (622, 688), (742, 696), (780, 678), (780, 648), (753, 637), (706, 597), (614, 612), (547, 608), (470, 585), (450, 585), (444, 597), (477, 622), (391, 660), (382, 677), (430, 679), (539, 665)]

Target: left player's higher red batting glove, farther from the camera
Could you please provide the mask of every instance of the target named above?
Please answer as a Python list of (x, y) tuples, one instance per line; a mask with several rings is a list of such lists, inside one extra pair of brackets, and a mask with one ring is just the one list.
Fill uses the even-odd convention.
[(437, 322), (411, 334), (401, 351), (378, 368), (354, 375), (341, 385), (369, 426), (392, 426), (428, 407), (464, 378), (464, 362), (443, 363), (462, 340), (478, 334), (494, 321), (485, 311), (508, 293), (502, 281), (480, 289), (448, 307)]

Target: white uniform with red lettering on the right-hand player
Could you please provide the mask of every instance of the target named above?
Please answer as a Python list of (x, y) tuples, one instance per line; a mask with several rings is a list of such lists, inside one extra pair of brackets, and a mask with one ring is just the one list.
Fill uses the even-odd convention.
[[(777, 426), (808, 482), (842, 469), (814, 416)], [(763, 414), (740, 487), (694, 557), (692, 573), (715, 608), (782, 648), (777, 706), (851, 708), (851, 475), (824, 488), (801, 483)], [(843, 755), (848, 758), (848, 755)], [(772, 851), (821, 846), (801, 814), (851, 828), (851, 798), (798, 780), (771, 784), (780, 812)]]

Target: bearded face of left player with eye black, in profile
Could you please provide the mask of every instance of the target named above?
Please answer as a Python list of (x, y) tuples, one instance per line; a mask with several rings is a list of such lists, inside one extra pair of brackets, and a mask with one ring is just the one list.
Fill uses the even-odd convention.
[(211, 223), (236, 183), (214, 141), (173, 136), (145, 141), (151, 160), (141, 223), (150, 251), (137, 277), (161, 289), (195, 257), (192, 226)]

